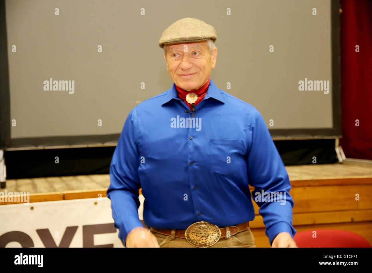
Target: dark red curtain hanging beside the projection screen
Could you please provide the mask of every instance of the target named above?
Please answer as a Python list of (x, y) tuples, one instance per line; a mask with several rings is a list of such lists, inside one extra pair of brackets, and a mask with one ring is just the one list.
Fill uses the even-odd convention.
[(341, 0), (340, 4), (340, 144), (346, 157), (372, 160), (372, 0)]

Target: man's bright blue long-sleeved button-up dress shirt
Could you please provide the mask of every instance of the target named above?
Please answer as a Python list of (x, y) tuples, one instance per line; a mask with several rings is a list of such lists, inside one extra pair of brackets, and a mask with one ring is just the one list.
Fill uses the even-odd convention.
[[(119, 238), (125, 243), (129, 231), (142, 226), (140, 188), (145, 225), (186, 229), (198, 221), (219, 227), (252, 221), (248, 184), (270, 244), (282, 231), (294, 236), (291, 183), (259, 111), (212, 80), (194, 118), (186, 110), (173, 84), (126, 118), (107, 190)], [(285, 201), (279, 195), (264, 199), (272, 192)]]

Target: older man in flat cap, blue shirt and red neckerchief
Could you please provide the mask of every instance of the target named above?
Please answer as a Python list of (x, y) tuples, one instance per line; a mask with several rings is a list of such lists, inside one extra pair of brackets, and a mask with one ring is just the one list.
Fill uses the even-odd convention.
[(291, 184), (261, 114), (209, 78), (216, 39), (193, 18), (161, 35), (174, 84), (131, 110), (110, 165), (107, 196), (126, 247), (255, 247), (249, 185), (270, 244), (296, 246)]

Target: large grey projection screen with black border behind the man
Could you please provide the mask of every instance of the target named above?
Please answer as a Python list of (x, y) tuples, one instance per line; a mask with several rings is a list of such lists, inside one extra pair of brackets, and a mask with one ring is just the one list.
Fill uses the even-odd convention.
[(129, 111), (171, 88), (158, 40), (184, 17), (215, 27), (211, 79), (274, 140), (340, 137), (338, 3), (6, 0), (7, 146), (115, 145)]

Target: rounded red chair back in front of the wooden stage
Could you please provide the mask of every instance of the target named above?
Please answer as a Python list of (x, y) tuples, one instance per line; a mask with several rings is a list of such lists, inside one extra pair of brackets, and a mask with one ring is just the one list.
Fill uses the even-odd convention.
[(346, 230), (306, 230), (296, 233), (294, 240), (298, 247), (371, 247), (365, 238)]

